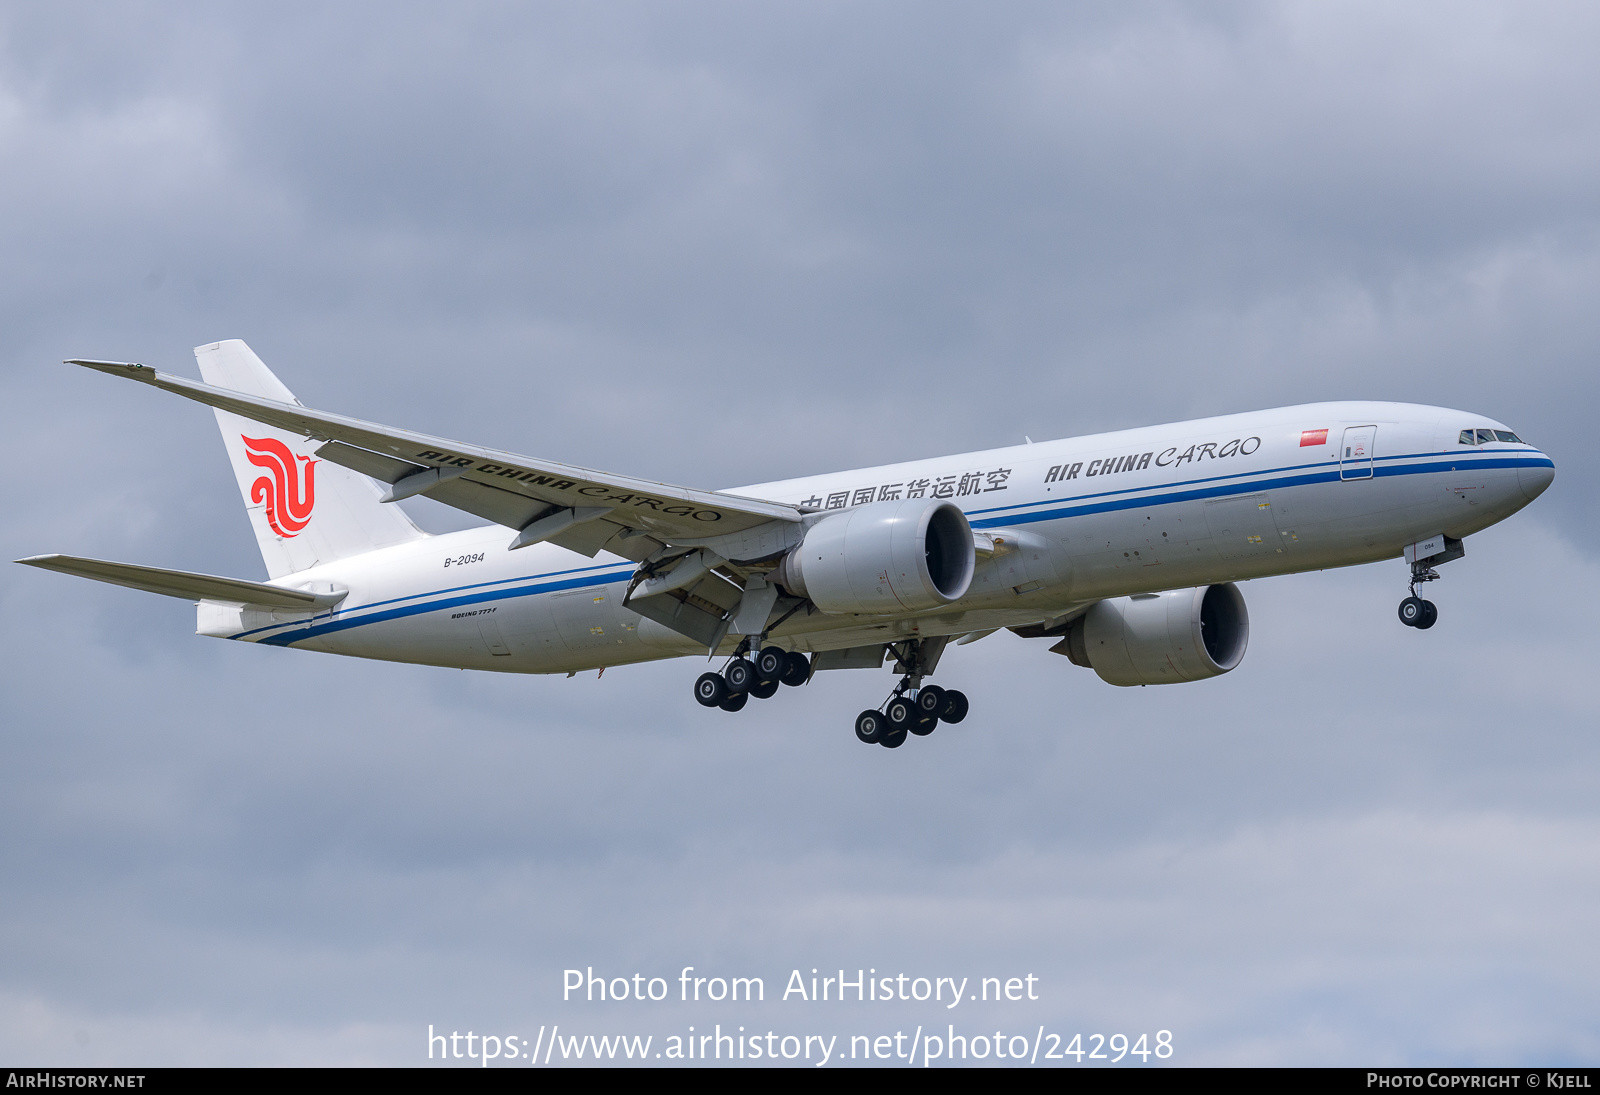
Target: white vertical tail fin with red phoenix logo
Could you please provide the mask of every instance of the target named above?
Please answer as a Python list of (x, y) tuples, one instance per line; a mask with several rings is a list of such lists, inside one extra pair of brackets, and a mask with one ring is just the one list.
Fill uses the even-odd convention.
[[(195, 360), (206, 384), (299, 403), (237, 338), (197, 346)], [(216, 424), (270, 578), (427, 535), (373, 480), (317, 459), (317, 442), (221, 410)]]

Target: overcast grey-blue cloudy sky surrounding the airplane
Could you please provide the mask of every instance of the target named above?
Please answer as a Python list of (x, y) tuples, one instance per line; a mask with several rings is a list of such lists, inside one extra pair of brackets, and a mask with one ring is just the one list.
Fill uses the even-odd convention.
[[(1000, 634), (894, 752), (850, 730), (886, 672), (736, 717), (693, 660), (347, 661), (8, 565), (0, 1058), (966, 1020), (1594, 1063), (1595, 56), (1582, 3), (0, 10), (8, 559), (264, 575), (211, 415), (58, 363), (222, 338), (314, 407), (698, 487), (1322, 399), (1557, 463), (1429, 632), (1392, 562), (1245, 584), (1194, 685)], [(574, 965), (770, 1002), (563, 1004)], [(802, 967), (1040, 999), (776, 1002)]]

